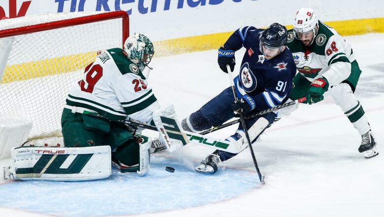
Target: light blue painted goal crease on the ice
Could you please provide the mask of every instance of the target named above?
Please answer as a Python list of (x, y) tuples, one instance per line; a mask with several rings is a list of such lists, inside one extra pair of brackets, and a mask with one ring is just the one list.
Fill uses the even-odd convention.
[[(167, 172), (166, 166), (175, 172)], [(0, 204), (68, 217), (132, 215), (215, 203), (258, 185), (256, 173), (249, 171), (226, 169), (202, 175), (170, 158), (152, 156), (151, 172), (143, 177), (113, 170), (110, 178), (96, 182), (15, 181), (1, 185)]]

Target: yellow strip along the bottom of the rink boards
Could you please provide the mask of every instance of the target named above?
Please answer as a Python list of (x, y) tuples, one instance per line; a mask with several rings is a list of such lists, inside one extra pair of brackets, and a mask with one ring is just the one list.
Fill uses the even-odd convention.
[[(343, 36), (360, 35), (371, 32), (384, 32), (384, 18), (331, 21), (325, 22), (325, 24), (333, 27), (339, 32), (339, 34)], [(291, 29), (292, 25), (286, 27)], [(155, 57), (217, 49), (220, 46), (223, 46), (224, 42), (232, 33), (232, 31), (221, 32), (154, 42), (156, 52)], [(43, 76), (57, 75), (65, 72), (77, 71), (83, 69), (89, 63), (91, 63), (96, 55), (97, 52), (90, 52), (87, 54), (75, 54), (7, 66), (5, 68), (1, 83), (21, 81)], [(78, 61), (79, 59), (82, 61)], [(68, 62), (70, 63), (69, 66)], [(41, 69), (41, 65), (46, 66), (44, 70)], [(23, 72), (23, 74), (15, 75), (14, 73), (12, 75), (13, 77), (11, 77), (11, 72), (15, 71)]]

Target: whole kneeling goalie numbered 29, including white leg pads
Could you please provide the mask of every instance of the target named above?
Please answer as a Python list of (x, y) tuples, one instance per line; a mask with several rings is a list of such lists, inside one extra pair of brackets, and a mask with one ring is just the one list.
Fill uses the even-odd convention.
[(66, 98), (61, 119), (65, 147), (14, 148), (4, 177), (96, 180), (110, 176), (111, 164), (121, 172), (148, 173), (151, 144), (153, 151), (165, 147), (111, 120), (131, 118), (154, 126), (152, 114), (160, 104), (147, 79), (153, 54), (152, 42), (139, 33), (128, 37), (124, 49), (99, 54)]

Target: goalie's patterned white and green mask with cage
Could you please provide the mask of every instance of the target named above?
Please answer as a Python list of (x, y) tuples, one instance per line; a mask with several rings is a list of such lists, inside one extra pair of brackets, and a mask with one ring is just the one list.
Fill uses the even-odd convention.
[(124, 51), (133, 63), (142, 62), (145, 66), (151, 62), (155, 53), (153, 44), (149, 38), (140, 33), (134, 33), (129, 36), (124, 43)]

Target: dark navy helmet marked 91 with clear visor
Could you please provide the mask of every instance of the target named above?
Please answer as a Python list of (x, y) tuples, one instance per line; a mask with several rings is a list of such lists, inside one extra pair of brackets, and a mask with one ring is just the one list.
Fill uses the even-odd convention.
[(263, 47), (268, 50), (282, 52), (287, 44), (287, 28), (278, 23), (274, 23), (265, 29), (260, 36), (260, 52), (264, 54)]

